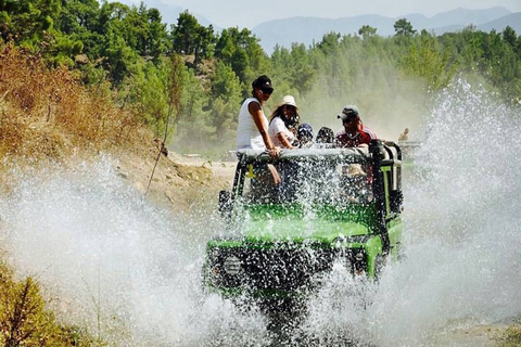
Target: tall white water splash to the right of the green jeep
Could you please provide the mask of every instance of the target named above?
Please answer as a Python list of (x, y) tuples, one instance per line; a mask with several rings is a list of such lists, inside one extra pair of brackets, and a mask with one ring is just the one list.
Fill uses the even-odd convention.
[[(459, 80), (441, 93), (428, 124), (417, 160), (423, 169), (404, 184), (407, 258), (367, 286), (364, 310), (350, 307), (323, 323), (312, 311), (315, 335), (333, 326), (376, 346), (437, 346), (436, 335), (452, 329), (521, 312), (519, 111)], [(334, 307), (331, 297), (326, 291), (313, 304)]]

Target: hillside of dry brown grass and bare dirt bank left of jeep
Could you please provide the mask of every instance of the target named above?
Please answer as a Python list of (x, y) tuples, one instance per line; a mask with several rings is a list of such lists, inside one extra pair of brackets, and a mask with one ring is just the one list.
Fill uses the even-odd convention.
[[(17, 184), (12, 168), (73, 168), (110, 157), (118, 175), (140, 193), (171, 209), (190, 204), (226, 184), (213, 181), (209, 164), (158, 153), (161, 140), (115, 105), (107, 90), (84, 87), (74, 72), (49, 70), (38, 56), (11, 46), (0, 56), (0, 181), (2, 191)], [(185, 162), (185, 164), (180, 163)], [(201, 194), (201, 195), (198, 195)]]

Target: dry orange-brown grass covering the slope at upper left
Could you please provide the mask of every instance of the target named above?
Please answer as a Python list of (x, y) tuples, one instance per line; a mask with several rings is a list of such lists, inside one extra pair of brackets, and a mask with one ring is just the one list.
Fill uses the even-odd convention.
[(115, 105), (106, 86), (89, 90), (77, 73), (49, 69), (38, 55), (0, 46), (0, 155), (62, 159), (78, 151), (131, 145), (148, 137)]

